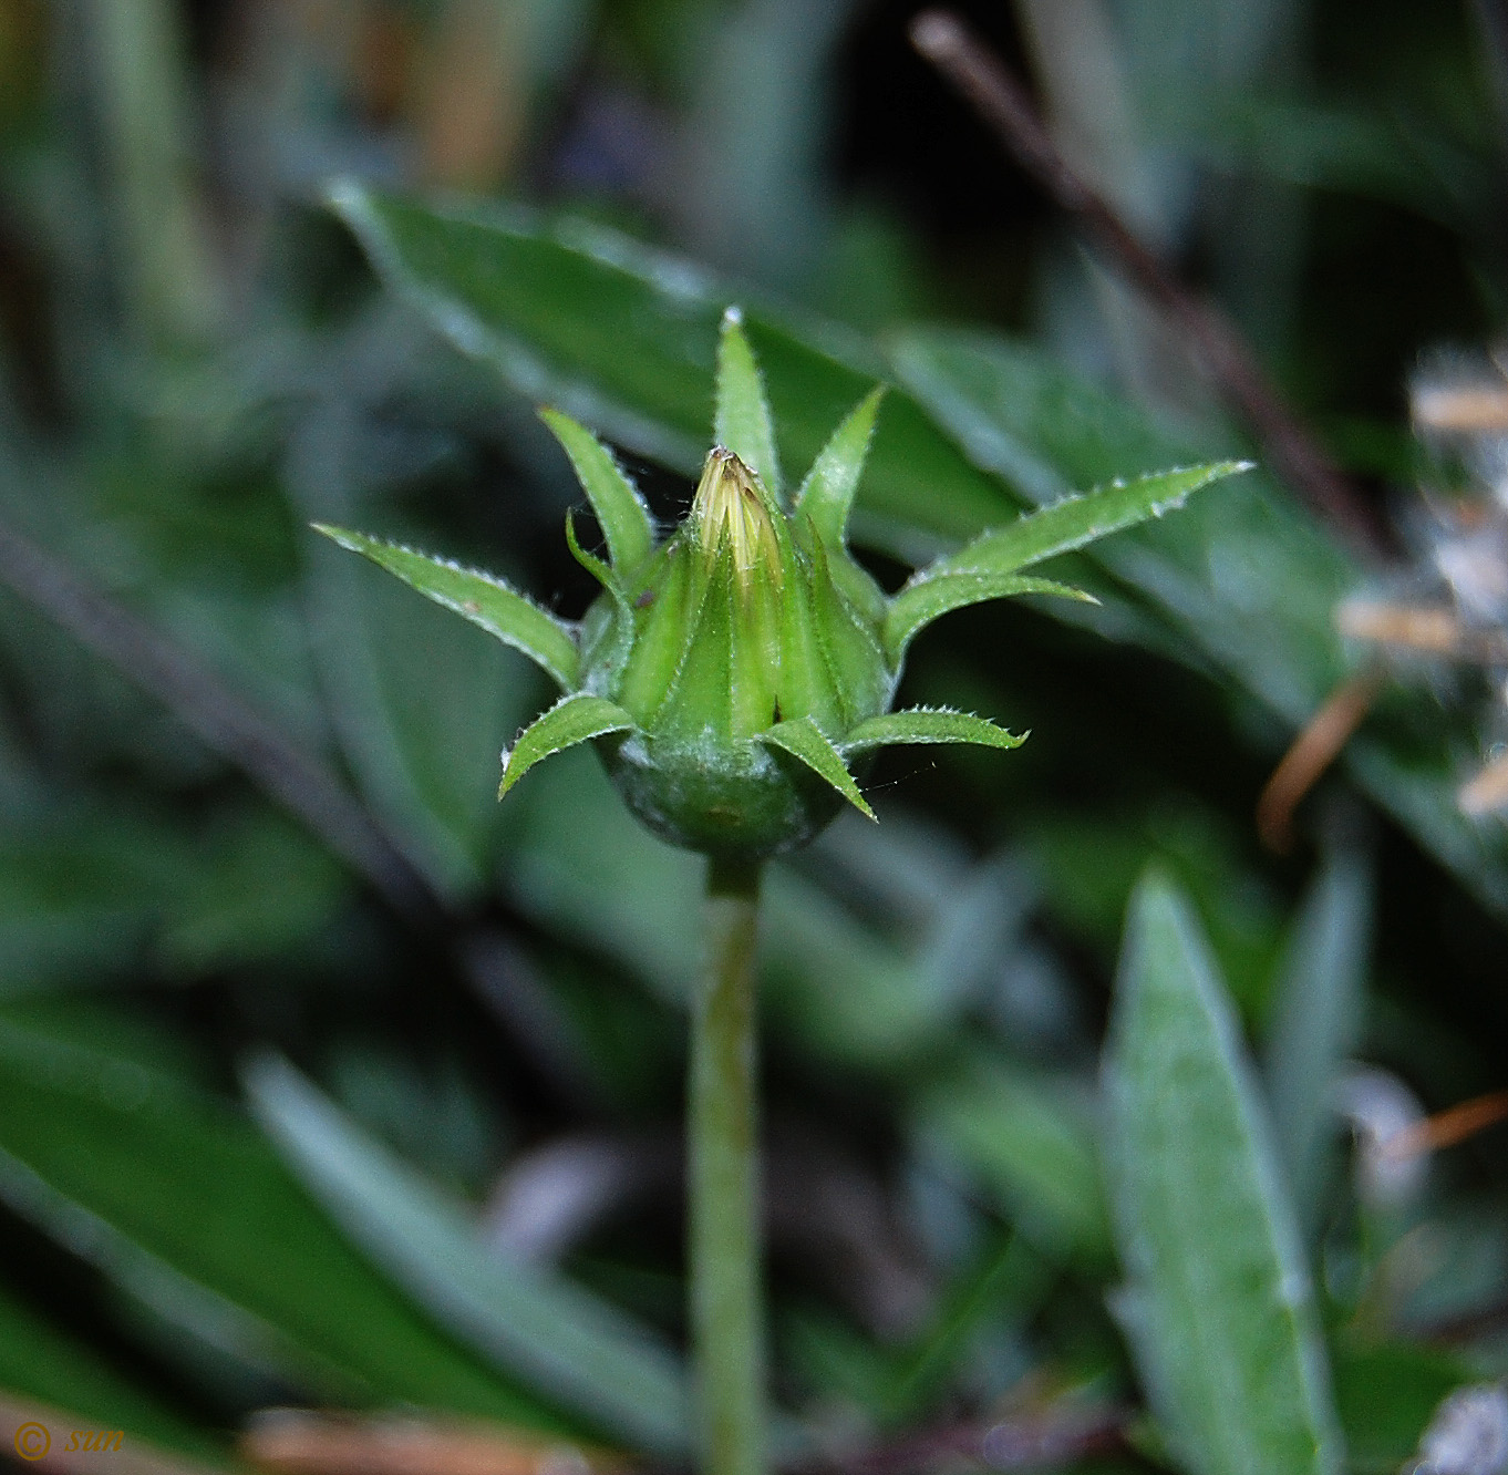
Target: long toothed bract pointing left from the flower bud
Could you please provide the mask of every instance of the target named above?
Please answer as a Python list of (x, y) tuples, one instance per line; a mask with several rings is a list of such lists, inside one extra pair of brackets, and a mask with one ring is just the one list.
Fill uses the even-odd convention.
[(395, 573), (410, 588), (443, 605), (472, 624), (480, 624), (505, 646), (522, 650), (562, 691), (576, 685), (581, 667), (576, 653), (575, 626), (541, 609), (532, 599), (490, 573), (463, 569), (443, 558), (416, 554), (397, 543), (383, 543), (363, 532), (315, 523), (315, 531), (333, 538), (341, 547), (362, 554), (389, 573)]

